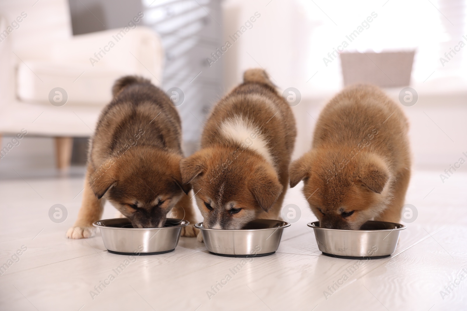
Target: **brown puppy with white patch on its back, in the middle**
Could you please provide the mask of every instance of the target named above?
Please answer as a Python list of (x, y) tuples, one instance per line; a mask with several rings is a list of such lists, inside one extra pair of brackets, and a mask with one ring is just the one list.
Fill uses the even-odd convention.
[(266, 72), (247, 70), (243, 83), (214, 106), (201, 150), (180, 162), (206, 228), (280, 218), (295, 136), (292, 111)]

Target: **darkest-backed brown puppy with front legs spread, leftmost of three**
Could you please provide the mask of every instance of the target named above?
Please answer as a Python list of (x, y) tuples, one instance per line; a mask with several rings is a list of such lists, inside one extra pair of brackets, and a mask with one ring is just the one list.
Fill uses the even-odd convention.
[[(169, 211), (172, 218), (194, 223), (190, 186), (182, 184), (180, 174), (177, 110), (142, 77), (120, 78), (112, 93), (90, 140), (83, 201), (67, 237), (93, 236), (92, 222), (101, 218), (105, 200), (137, 228), (163, 227)], [(195, 236), (192, 225), (182, 235)]]

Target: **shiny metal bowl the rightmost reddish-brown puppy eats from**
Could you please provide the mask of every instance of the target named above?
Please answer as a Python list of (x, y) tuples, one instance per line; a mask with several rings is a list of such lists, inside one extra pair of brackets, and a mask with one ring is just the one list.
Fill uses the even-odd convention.
[(396, 250), (404, 225), (386, 221), (367, 221), (360, 230), (320, 228), (319, 221), (308, 227), (315, 232), (318, 248), (323, 255), (347, 259), (378, 259)]

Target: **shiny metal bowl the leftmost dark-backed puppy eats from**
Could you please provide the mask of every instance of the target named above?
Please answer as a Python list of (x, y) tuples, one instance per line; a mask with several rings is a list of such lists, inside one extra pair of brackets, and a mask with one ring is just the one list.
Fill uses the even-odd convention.
[(128, 218), (95, 221), (106, 249), (120, 255), (156, 255), (171, 252), (180, 238), (182, 227), (190, 222), (167, 218), (162, 228), (133, 228)]

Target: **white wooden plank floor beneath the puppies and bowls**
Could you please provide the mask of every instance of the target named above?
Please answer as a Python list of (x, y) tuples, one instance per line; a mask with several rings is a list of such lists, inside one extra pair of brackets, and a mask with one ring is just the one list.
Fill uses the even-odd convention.
[[(467, 174), (458, 171), (442, 184), (440, 173), (414, 172), (406, 203), (417, 207), (417, 220), (391, 257), (365, 262), (353, 275), (347, 268), (355, 261), (318, 251), (306, 227), (315, 217), (300, 185), (284, 205), (301, 207), (302, 219), (284, 230), (276, 254), (235, 275), (229, 269), (241, 258), (211, 255), (193, 238), (181, 238), (172, 253), (135, 257), (116, 275), (128, 256), (108, 253), (100, 234), (65, 237), (78, 213), (81, 179), (1, 181), (0, 265), (12, 256), (16, 262), (0, 276), (0, 310), (467, 310)], [(62, 223), (48, 216), (57, 203), (68, 210)], [(114, 213), (106, 208), (104, 217)], [(21, 247), (27, 250), (15, 257)], [(92, 297), (110, 274), (115, 279)], [(232, 279), (212, 291), (227, 274)], [(344, 274), (348, 280), (325, 297)]]

